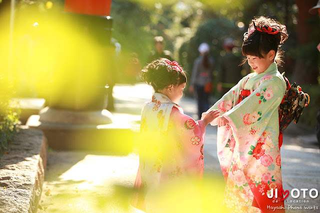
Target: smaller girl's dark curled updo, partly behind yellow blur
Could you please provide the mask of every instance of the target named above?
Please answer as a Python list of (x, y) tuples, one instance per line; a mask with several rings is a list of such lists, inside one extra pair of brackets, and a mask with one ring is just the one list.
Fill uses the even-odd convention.
[(184, 70), (167, 63), (167, 60), (166, 58), (153, 60), (142, 69), (141, 79), (151, 85), (156, 92), (167, 86), (186, 82)]

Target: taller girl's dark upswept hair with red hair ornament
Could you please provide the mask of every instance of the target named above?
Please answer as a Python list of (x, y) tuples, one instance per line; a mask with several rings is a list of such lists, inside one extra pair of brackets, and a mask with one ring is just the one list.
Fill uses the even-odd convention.
[(288, 36), (285, 25), (275, 19), (259, 16), (252, 20), (248, 27), (248, 31), (244, 33), (242, 54), (263, 58), (262, 54), (274, 50), (276, 54), (274, 58), (275, 62), (277, 65), (280, 65), (283, 51), (280, 50), (279, 47)]

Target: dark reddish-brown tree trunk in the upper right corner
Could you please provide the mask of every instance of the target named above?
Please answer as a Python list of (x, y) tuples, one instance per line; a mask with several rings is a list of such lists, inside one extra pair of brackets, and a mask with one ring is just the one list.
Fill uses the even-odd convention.
[(298, 22), (296, 26), (296, 62), (293, 70), (293, 80), (298, 84), (317, 84), (319, 74), (319, 52), (316, 45), (319, 42), (319, 25), (316, 15), (308, 10), (316, 5), (317, 0), (295, 0), (298, 7)]

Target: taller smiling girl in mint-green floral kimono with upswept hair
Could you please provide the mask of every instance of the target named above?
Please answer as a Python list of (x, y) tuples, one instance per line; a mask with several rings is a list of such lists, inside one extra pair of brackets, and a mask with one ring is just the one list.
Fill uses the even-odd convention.
[(278, 106), (286, 84), (277, 63), (287, 37), (285, 25), (274, 19), (252, 20), (242, 53), (254, 72), (209, 109), (220, 110), (211, 124), (218, 125), (224, 203), (231, 212), (284, 212)]

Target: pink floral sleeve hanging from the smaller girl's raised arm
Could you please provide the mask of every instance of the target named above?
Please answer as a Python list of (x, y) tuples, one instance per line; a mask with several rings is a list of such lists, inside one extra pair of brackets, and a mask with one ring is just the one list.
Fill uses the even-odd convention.
[(205, 124), (172, 108), (168, 124), (172, 159), (168, 161), (168, 178), (179, 175), (201, 177), (203, 174), (203, 144)]

